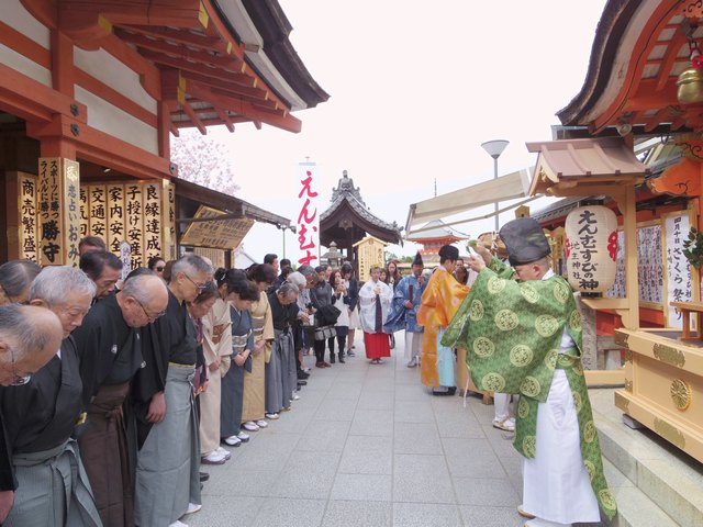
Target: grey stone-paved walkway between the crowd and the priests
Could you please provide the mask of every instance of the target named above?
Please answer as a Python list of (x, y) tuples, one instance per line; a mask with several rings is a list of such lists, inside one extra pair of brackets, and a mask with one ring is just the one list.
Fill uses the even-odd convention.
[(360, 340), (346, 365), (313, 367), (292, 410), (227, 463), (204, 467), (202, 511), (185, 523), (522, 527), (521, 460), (493, 406), (432, 396), (405, 367), (402, 333), (378, 366)]

